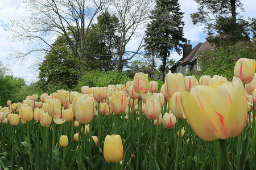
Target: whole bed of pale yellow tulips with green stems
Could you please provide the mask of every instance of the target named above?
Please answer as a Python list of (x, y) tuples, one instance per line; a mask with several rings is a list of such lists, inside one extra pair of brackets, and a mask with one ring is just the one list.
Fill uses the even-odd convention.
[(83, 86), (7, 101), (2, 169), (256, 169), (255, 60), (234, 79), (167, 74), (158, 83)]

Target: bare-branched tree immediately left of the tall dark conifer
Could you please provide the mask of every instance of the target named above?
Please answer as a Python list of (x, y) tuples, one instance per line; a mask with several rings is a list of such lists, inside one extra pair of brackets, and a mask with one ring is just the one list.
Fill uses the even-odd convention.
[[(144, 46), (144, 35), (141, 35), (140, 31), (142, 31), (144, 24), (148, 22), (152, 4), (151, 0), (113, 0), (110, 6), (102, 6), (102, 15), (105, 14), (104, 11), (112, 9), (119, 19), (119, 29), (117, 30), (112, 28), (112, 23), (107, 24), (114, 38), (115, 62), (118, 71), (122, 71), (123, 63), (138, 54)], [(127, 44), (135, 39), (139, 41), (136, 50), (127, 49)]]

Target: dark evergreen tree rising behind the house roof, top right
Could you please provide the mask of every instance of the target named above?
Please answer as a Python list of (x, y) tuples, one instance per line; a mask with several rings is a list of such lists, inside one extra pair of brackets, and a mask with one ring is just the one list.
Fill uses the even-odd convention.
[[(242, 19), (239, 10), (245, 12), (240, 0), (195, 0), (198, 11), (191, 14), (193, 24), (205, 25), (208, 34), (217, 32), (221, 36), (207, 39), (212, 44), (234, 45), (237, 41), (255, 39), (255, 18)], [(228, 41), (227, 41), (228, 40)], [(228, 42), (228, 43), (227, 43)]]

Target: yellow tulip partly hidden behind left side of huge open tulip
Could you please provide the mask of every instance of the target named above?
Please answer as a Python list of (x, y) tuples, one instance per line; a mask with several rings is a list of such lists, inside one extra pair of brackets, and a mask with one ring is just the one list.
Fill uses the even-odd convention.
[(176, 118), (184, 118), (183, 117), (183, 111), (181, 109), (181, 96), (180, 92), (175, 92), (175, 94), (171, 97), (170, 100), (170, 109), (172, 111), (172, 114)]

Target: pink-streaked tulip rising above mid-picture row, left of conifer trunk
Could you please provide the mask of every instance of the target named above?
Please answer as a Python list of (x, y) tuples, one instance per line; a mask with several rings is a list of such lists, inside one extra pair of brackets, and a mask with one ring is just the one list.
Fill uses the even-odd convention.
[(144, 73), (136, 73), (133, 78), (134, 91), (139, 94), (146, 94), (149, 88), (148, 75)]

